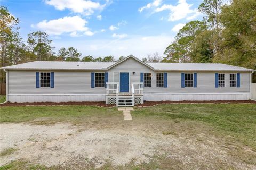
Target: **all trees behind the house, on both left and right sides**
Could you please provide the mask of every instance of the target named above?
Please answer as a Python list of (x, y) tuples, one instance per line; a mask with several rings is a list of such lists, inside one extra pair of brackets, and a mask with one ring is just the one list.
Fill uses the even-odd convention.
[[(224, 63), (256, 69), (256, 1), (204, 0), (198, 10), (202, 21), (182, 27), (166, 48), (165, 57), (158, 52), (142, 58), (144, 62)], [(52, 40), (43, 31), (31, 32), (25, 42), (19, 34), (19, 19), (0, 7), (1, 64), (8, 66), (31, 61), (114, 62), (113, 56), (82, 56), (74, 47), (55, 53)], [(82, 59), (81, 59), (82, 58)], [(124, 56), (119, 57), (123, 60)], [(1, 79), (5, 74), (1, 71)], [(254, 81), (256, 76), (254, 76)]]

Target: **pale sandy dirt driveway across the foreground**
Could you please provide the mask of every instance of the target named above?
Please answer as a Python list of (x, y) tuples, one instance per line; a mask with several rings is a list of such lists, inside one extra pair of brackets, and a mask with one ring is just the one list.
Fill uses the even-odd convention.
[(172, 163), (187, 168), (217, 165), (235, 169), (256, 169), (242, 160), (230, 158), (214, 136), (204, 142), (192, 138), (163, 135), (138, 128), (86, 128), (68, 123), (32, 125), (0, 124), (0, 151), (16, 148), (12, 154), (1, 156), (0, 166), (12, 160), (27, 159), (47, 167), (71, 162), (90, 162), (100, 167), (107, 161), (114, 166), (148, 163), (154, 156), (164, 156)]

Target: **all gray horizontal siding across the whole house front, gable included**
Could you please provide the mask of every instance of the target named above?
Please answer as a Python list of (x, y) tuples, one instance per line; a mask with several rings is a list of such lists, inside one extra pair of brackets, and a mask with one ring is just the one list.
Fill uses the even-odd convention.
[[(36, 72), (9, 70), (9, 94), (105, 94), (104, 87), (91, 88), (91, 72), (54, 71), (54, 88), (36, 88)], [(50, 71), (49, 71), (50, 72)], [(97, 71), (94, 71), (97, 72)], [(102, 71), (99, 71), (102, 72)], [(140, 73), (152, 73), (152, 87), (144, 93), (232, 93), (250, 92), (250, 73), (241, 73), (241, 87), (229, 87), (229, 72), (226, 72), (226, 87), (215, 88), (215, 72), (197, 72), (197, 88), (181, 88), (181, 72), (167, 72), (167, 88), (156, 87), (156, 73), (149, 67), (129, 58), (107, 71), (109, 82), (119, 81), (119, 72), (130, 73), (130, 83), (140, 82)], [(133, 72), (135, 72), (133, 74)], [(236, 72), (235, 72), (236, 73)]]

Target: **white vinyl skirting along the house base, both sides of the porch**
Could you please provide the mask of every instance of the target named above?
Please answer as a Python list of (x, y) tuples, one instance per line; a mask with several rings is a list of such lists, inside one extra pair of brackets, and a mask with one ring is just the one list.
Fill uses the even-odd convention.
[[(144, 94), (146, 101), (249, 100), (249, 93)], [(105, 94), (9, 94), (10, 102), (105, 101)]]

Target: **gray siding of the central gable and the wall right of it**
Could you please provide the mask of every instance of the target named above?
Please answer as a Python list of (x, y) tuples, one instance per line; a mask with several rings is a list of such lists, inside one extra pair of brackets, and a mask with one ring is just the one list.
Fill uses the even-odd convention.
[[(167, 88), (156, 87), (156, 73), (149, 67), (135, 61), (133, 58), (129, 58), (127, 61), (120, 63), (110, 69), (109, 81), (117, 81), (119, 79), (114, 78), (116, 72), (129, 72), (130, 82), (140, 82), (140, 73), (152, 74), (152, 87), (145, 87), (144, 93), (211, 93), (211, 92), (249, 92), (250, 91), (250, 73), (241, 74), (241, 87), (229, 87), (229, 74), (231, 72), (224, 72), (226, 79), (226, 87), (215, 88), (215, 72), (197, 72), (197, 87), (181, 88), (181, 72), (167, 72)], [(114, 72), (114, 74), (113, 74)], [(133, 74), (135, 72), (135, 74)], [(163, 73), (163, 72), (159, 72)], [(223, 72), (221, 72), (223, 73)], [(237, 72), (235, 72), (237, 73)]]

